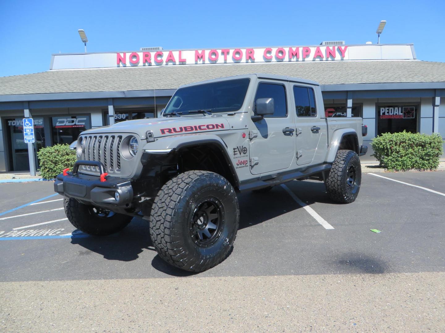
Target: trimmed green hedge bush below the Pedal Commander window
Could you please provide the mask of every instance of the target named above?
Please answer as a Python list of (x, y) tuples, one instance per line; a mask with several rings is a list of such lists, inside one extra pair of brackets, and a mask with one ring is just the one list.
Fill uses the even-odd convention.
[(384, 133), (371, 143), (376, 159), (388, 170), (434, 170), (443, 153), (442, 138), (438, 134)]

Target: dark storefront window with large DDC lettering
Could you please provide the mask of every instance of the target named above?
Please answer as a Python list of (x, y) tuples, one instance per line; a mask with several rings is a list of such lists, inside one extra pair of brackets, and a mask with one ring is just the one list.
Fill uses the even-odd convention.
[(88, 115), (69, 115), (53, 117), (53, 144), (70, 144), (77, 140), (79, 134), (91, 128)]

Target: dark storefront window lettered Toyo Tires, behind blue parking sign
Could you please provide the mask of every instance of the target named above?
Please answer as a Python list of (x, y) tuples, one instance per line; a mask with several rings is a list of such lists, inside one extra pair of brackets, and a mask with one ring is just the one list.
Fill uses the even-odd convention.
[[(9, 150), (11, 156), (10, 167), (14, 171), (27, 171), (29, 170), (28, 143), (24, 142), (23, 119), (7, 119), (6, 121), (8, 124), (8, 136), (11, 140)], [(46, 146), (43, 118), (34, 118), (34, 139), (36, 140), (33, 144), (35, 152)], [(37, 159), (36, 166), (39, 167)]]

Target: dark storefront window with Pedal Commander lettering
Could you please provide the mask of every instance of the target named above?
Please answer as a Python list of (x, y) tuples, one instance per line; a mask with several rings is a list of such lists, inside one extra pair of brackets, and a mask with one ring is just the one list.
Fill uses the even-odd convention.
[(377, 106), (377, 134), (417, 132), (417, 105)]

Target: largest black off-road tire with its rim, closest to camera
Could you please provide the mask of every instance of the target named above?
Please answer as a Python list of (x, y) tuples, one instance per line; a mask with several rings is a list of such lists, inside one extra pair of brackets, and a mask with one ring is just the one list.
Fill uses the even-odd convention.
[(238, 199), (230, 182), (213, 172), (187, 171), (162, 186), (154, 199), (150, 236), (166, 262), (202, 272), (230, 254), (238, 223)]

